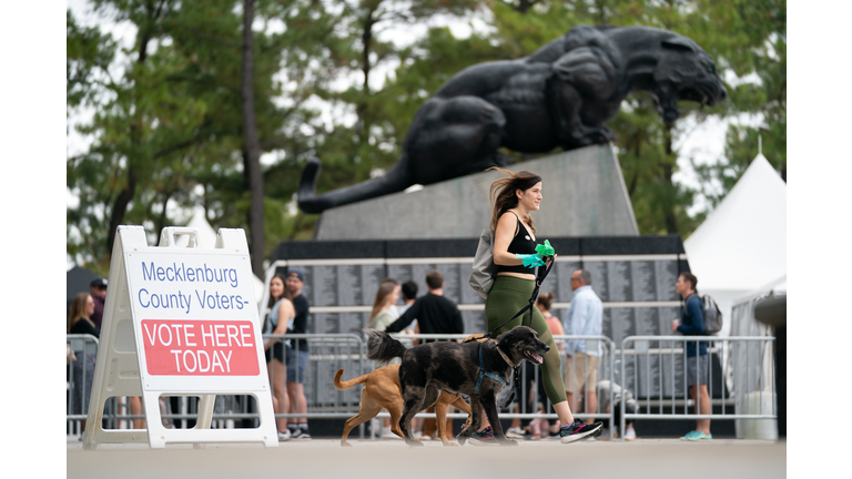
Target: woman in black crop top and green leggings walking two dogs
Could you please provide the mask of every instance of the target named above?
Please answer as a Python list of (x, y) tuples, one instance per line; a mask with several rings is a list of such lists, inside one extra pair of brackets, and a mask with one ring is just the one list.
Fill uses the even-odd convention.
[[(513, 173), (500, 167), (491, 170), (499, 171), (506, 177), (495, 181), (490, 187), (494, 264), (498, 269), (485, 304), (488, 330), (508, 322), (529, 303), (529, 297), (536, 287), (535, 267), (546, 264), (536, 252), (536, 228), (529, 215), (530, 212), (538, 211), (541, 203), (541, 177), (527, 171)], [(541, 342), (550, 346), (550, 350), (544, 357), (541, 377), (545, 393), (561, 424), (559, 429), (561, 442), (574, 442), (599, 431), (601, 422), (588, 425), (581, 420), (575, 420), (566, 400), (559, 350), (556, 348), (547, 322), (537, 307), (531, 309), (529, 316), (525, 313), (505, 324), (496, 334), (521, 324), (526, 325), (527, 322), (521, 322), (527, 317), (530, 317), (528, 326), (538, 333)], [(489, 436), (490, 428), (486, 428), (476, 432), (471, 441), (479, 439), (483, 442), (494, 442), (493, 439), (488, 440)]]

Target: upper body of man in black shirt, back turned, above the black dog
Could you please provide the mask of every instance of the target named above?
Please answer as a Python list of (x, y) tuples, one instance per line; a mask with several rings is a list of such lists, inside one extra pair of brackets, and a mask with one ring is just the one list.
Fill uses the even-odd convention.
[(428, 294), (415, 299), (414, 304), (385, 329), (386, 332), (399, 333), (415, 319), (420, 334), (463, 334), (465, 332), (465, 323), (462, 320), (458, 307), (444, 297), (444, 275), (435, 269), (428, 272), (426, 286), (429, 289)]

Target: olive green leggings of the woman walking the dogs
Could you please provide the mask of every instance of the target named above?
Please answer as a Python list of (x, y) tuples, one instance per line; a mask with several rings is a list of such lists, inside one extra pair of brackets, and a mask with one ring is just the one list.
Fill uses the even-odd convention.
[[(488, 330), (494, 330), (504, 322), (509, 320), (524, 306), (529, 304), (529, 297), (532, 295), (536, 284), (531, 279), (521, 279), (514, 276), (497, 276), (494, 279), (494, 286), (488, 293), (488, 300), (485, 302), (485, 317), (488, 319)], [(545, 317), (537, 307), (532, 307), (532, 320), (529, 320), (529, 312), (516, 317), (507, 324), (497, 334), (505, 333), (515, 326), (524, 325), (531, 327), (538, 333), (538, 338), (550, 346), (550, 351), (545, 355), (545, 361), (541, 365), (541, 379), (545, 384), (545, 394), (551, 404), (558, 404), (566, 400), (565, 383), (562, 383), (562, 363), (559, 358), (559, 350), (554, 343), (554, 335), (547, 326)]]

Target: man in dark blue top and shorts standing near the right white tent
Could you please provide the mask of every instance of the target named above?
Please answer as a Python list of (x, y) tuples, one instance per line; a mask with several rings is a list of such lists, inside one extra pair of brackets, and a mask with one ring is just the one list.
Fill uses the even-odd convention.
[[(671, 330), (684, 336), (704, 335), (703, 303), (698, 297), (696, 286), (698, 278), (692, 273), (681, 273), (674, 283), (674, 292), (683, 298), (681, 319), (671, 322)], [(698, 348), (696, 348), (698, 344)], [(696, 350), (698, 349), (698, 350)], [(711, 414), (710, 394), (707, 390), (707, 377), (710, 360), (707, 355), (706, 342), (687, 343), (687, 387), (692, 400), (696, 401), (696, 414)], [(698, 396), (698, 397), (697, 397)], [(699, 407), (700, 406), (700, 407)], [(699, 411), (700, 409), (700, 411)], [(706, 441), (713, 439), (710, 434), (710, 419), (698, 419), (696, 430), (687, 432), (681, 440)]]

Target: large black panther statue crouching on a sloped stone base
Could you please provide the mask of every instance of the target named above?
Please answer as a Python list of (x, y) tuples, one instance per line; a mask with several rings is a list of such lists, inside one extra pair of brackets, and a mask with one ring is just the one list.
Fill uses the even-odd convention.
[(546, 153), (609, 142), (605, 123), (640, 90), (668, 124), (680, 115), (678, 101), (713, 105), (727, 95), (713, 59), (689, 38), (648, 27), (575, 27), (529, 57), (458, 72), (419, 108), (385, 175), (316, 196), (321, 163), (308, 160), (298, 206), (320, 213), (505, 165), (500, 146)]

